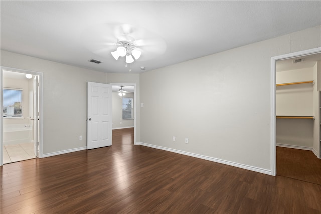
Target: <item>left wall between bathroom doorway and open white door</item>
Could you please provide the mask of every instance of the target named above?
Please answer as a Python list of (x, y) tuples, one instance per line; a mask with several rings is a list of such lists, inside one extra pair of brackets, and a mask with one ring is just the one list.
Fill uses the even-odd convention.
[(106, 83), (105, 73), (4, 50), (1, 66), (43, 73), (44, 155), (86, 147), (87, 82)]

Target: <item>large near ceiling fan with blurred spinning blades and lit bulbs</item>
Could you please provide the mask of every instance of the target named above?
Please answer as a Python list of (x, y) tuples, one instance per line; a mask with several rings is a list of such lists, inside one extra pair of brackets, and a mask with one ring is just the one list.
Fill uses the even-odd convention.
[(130, 24), (100, 24), (86, 31), (90, 32), (86, 46), (91, 52), (117, 61), (121, 59), (119, 57), (125, 57), (126, 65), (138, 59), (154, 59), (162, 55), (167, 47), (161, 37)]

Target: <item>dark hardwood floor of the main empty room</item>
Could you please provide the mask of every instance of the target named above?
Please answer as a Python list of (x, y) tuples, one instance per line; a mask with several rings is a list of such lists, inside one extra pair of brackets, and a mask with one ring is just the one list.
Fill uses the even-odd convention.
[(321, 213), (318, 184), (134, 146), (122, 131), (110, 147), (2, 166), (1, 213)]

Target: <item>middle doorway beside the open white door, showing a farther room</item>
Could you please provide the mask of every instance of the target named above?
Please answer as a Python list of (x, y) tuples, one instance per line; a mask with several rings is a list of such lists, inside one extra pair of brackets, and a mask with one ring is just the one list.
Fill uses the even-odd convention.
[[(136, 143), (136, 84), (110, 83), (112, 85), (112, 129), (113, 133), (121, 131), (131, 133), (133, 129), (133, 144)], [(120, 94), (120, 92), (123, 92)], [(126, 134), (131, 137), (131, 134)]]

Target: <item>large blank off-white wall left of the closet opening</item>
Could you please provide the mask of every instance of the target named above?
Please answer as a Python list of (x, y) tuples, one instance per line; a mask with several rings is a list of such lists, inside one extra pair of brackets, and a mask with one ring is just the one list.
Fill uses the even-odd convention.
[(320, 47), (320, 32), (317, 26), (142, 73), (141, 142), (269, 173), (271, 57)]

